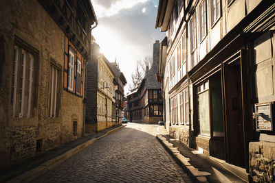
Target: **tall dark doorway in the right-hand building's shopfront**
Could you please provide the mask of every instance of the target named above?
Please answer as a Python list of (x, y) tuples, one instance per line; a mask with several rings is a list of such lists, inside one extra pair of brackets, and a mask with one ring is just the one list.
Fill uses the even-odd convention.
[(243, 107), (241, 88), (241, 60), (223, 64), (223, 94), (225, 103), (225, 132), (227, 160), (245, 167), (243, 144)]

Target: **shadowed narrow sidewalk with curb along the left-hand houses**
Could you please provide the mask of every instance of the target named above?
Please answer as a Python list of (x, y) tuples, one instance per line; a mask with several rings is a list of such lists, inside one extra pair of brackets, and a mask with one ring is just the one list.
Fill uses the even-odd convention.
[(33, 158), (23, 160), (0, 173), (0, 182), (32, 182), (50, 169), (58, 166), (74, 154), (91, 145), (111, 132), (120, 130), (125, 125), (109, 127), (98, 133), (88, 134), (69, 143), (64, 143), (54, 149), (45, 151)]

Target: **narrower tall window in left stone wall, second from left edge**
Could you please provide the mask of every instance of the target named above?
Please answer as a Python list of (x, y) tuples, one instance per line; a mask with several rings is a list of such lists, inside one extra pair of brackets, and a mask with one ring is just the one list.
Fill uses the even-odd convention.
[(58, 117), (58, 111), (60, 106), (60, 69), (54, 64), (50, 65), (50, 77), (49, 77), (49, 116)]

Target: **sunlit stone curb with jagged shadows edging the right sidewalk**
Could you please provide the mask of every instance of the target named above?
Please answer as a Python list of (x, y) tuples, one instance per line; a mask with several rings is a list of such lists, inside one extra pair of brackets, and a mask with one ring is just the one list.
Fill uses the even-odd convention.
[(175, 162), (179, 164), (179, 166), (186, 171), (186, 173), (190, 176), (190, 178), (194, 182), (208, 182), (206, 176), (211, 175), (211, 173), (207, 171), (199, 171), (199, 169), (193, 167), (188, 161), (190, 158), (186, 158), (177, 150), (177, 147), (173, 147), (172, 143), (169, 143), (166, 138), (162, 135), (156, 136), (159, 143), (162, 144), (164, 149), (168, 151), (168, 153), (173, 157)]

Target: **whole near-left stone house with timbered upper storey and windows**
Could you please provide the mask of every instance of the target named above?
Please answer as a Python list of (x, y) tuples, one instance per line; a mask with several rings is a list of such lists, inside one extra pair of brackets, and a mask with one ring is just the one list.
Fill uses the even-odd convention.
[(97, 20), (89, 1), (0, 5), (2, 169), (83, 136), (85, 62)]

